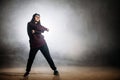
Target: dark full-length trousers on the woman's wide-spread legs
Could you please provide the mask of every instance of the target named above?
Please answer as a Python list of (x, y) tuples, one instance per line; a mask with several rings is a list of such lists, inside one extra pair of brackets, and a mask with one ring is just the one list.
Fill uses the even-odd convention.
[(40, 50), (42, 52), (43, 56), (46, 58), (48, 64), (52, 68), (52, 70), (56, 70), (55, 64), (50, 56), (48, 46), (47, 46), (47, 44), (45, 44), (40, 48), (30, 48), (30, 53), (29, 53), (29, 58), (28, 58), (27, 66), (26, 66), (26, 71), (30, 72), (31, 66), (33, 64), (33, 61), (35, 59), (35, 55), (36, 55), (38, 50)]

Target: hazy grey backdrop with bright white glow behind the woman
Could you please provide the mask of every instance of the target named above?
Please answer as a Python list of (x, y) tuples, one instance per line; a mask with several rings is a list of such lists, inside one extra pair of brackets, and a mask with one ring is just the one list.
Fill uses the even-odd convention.
[[(50, 30), (43, 35), (57, 65), (120, 66), (117, 1), (3, 0), (0, 10), (0, 68), (26, 66), (34, 13)], [(42, 65), (39, 51), (34, 66)]]

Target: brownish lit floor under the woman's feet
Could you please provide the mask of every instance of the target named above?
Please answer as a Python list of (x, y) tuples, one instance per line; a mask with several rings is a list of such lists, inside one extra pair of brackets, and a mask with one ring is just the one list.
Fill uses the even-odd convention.
[[(28, 80), (120, 80), (120, 70), (107, 67), (58, 67), (59, 76), (54, 76), (49, 67), (33, 67)], [(0, 69), (0, 80), (23, 79), (24, 68)]]

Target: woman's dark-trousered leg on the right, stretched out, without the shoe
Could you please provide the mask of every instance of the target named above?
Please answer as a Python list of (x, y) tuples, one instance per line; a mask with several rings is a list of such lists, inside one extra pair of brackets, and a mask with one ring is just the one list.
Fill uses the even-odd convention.
[(40, 47), (40, 51), (42, 52), (43, 56), (46, 58), (47, 62), (49, 63), (52, 70), (56, 70), (55, 64), (50, 56), (49, 49), (47, 44)]

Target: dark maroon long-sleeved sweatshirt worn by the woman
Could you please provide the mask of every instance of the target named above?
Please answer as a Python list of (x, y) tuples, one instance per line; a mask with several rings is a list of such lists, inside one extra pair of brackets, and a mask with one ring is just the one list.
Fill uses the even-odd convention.
[[(32, 33), (32, 30), (35, 30), (35, 33)], [(29, 36), (29, 42), (31, 48), (38, 48), (46, 44), (46, 41), (44, 40), (44, 36), (41, 34), (44, 31), (46, 31), (47, 28), (40, 24), (34, 24), (32, 22), (29, 22), (27, 25), (27, 32)]]

